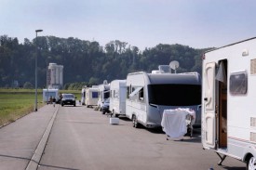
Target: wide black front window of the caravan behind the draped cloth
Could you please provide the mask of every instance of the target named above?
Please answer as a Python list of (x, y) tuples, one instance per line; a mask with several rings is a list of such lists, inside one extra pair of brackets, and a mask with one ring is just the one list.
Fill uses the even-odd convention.
[(201, 85), (148, 85), (149, 103), (166, 106), (201, 104)]

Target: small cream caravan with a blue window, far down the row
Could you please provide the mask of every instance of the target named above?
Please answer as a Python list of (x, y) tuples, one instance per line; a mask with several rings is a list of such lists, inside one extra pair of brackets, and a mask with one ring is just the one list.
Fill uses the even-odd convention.
[(99, 98), (99, 88), (97, 86), (86, 88), (86, 101), (87, 107), (97, 106)]

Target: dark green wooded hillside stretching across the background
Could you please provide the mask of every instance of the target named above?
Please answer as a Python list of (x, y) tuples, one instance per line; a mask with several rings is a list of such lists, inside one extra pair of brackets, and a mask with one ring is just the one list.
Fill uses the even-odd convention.
[(119, 40), (101, 46), (97, 41), (55, 36), (38, 36), (32, 41), (25, 38), (19, 43), (18, 38), (1, 35), (0, 87), (34, 87), (36, 51), (39, 88), (47, 85), (47, 66), (54, 62), (64, 66), (64, 88), (79, 89), (104, 80), (126, 79), (129, 72), (151, 72), (172, 60), (180, 62), (177, 72), (201, 73), (201, 56), (208, 49), (159, 44), (141, 50)]

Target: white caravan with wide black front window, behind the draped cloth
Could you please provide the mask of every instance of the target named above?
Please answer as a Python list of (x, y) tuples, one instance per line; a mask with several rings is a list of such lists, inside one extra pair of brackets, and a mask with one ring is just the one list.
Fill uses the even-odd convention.
[(146, 73), (127, 76), (126, 115), (133, 126), (161, 126), (164, 110), (190, 108), (196, 112), (195, 123), (201, 124), (201, 79), (197, 72)]

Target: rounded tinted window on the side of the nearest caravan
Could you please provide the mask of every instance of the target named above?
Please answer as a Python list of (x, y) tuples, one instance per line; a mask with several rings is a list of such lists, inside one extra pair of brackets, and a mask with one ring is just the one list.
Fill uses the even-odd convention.
[(244, 95), (247, 93), (248, 78), (246, 72), (231, 73), (229, 82), (229, 91), (232, 95)]

